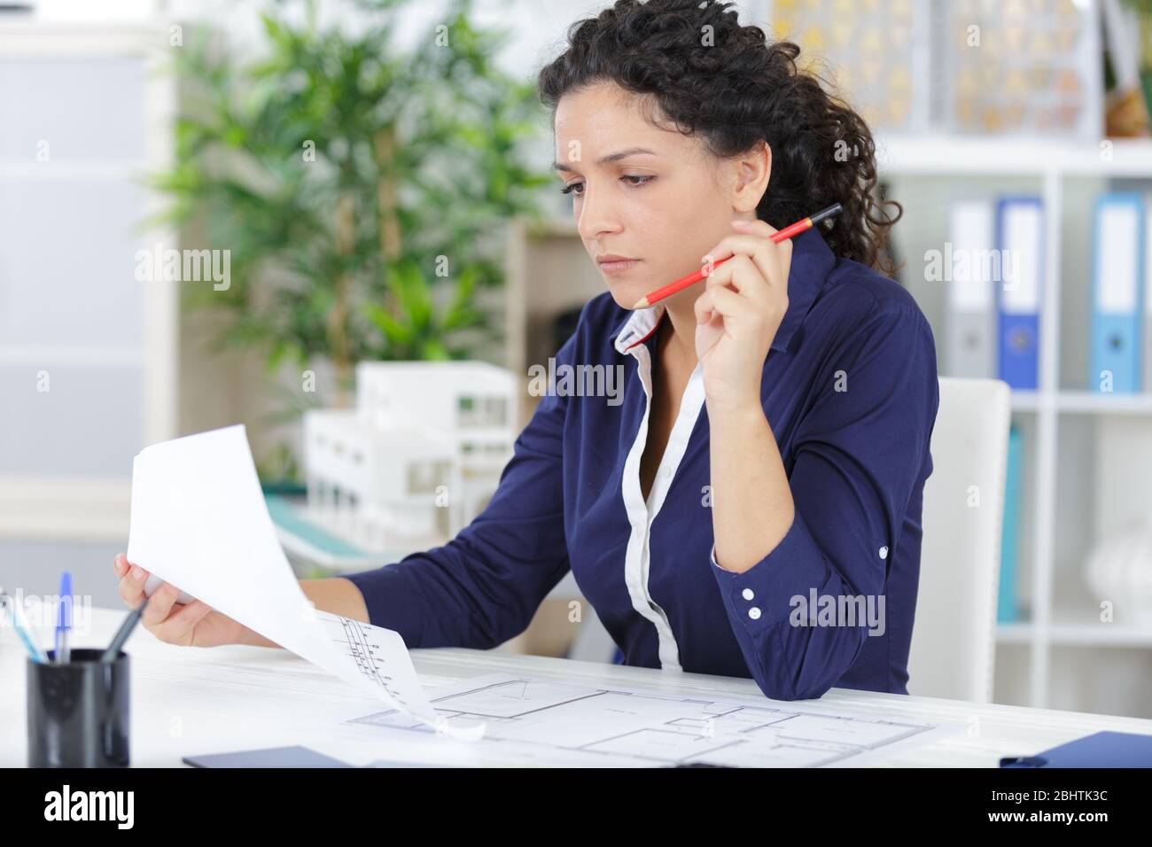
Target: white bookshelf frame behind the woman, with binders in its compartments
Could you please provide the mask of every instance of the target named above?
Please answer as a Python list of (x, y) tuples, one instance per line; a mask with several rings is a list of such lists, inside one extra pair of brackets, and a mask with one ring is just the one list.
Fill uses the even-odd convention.
[[(999, 194), (996, 186), (1003, 182), (1008, 186), (1006, 194), (1030, 192), (1044, 201), (1047, 237), (1041, 282), (1039, 387), (1014, 391), (1011, 398), (1014, 418), (1028, 426), (1032, 441), (1025, 448), (1028, 478), (1022, 481), (1025, 491), (1031, 491), (1022, 507), (1031, 515), (1021, 527), (1021, 574), (1029, 574), (1025, 588), (1030, 589), (1031, 614), (1026, 621), (999, 625), (996, 641), (1001, 648), (1023, 651), (1023, 663), (1015, 667), (1024, 668), (1017, 673), (1026, 673), (1023, 699), (1028, 705), (1077, 710), (1077, 703), (1059, 702), (1054, 695), (1055, 675), (1075, 678), (1076, 663), (1085, 660), (1082, 650), (1092, 650), (1099, 656), (1100, 650), (1115, 649), (1117, 653), (1134, 652), (1126, 653), (1120, 665), (1111, 664), (1113, 670), (1120, 667), (1126, 674), (1146, 679), (1147, 663), (1152, 660), (1152, 652), (1147, 652), (1152, 648), (1152, 625), (1100, 623), (1094, 602), (1091, 597), (1084, 598), (1083, 589), (1076, 584), (1075, 568), (1069, 573), (1067, 566), (1058, 567), (1062, 550), (1058, 546), (1059, 537), (1071, 531), (1063, 527), (1069, 512), (1067, 504), (1076, 493), (1068, 487), (1074, 483), (1084, 485), (1084, 498), (1089, 502), (1097, 502), (1101, 497), (1099, 474), (1092, 481), (1074, 481), (1071, 471), (1061, 474), (1063, 466), (1075, 467), (1077, 461), (1084, 461), (1071, 455), (1077, 451), (1069, 451), (1069, 445), (1061, 439), (1064, 436), (1079, 438), (1076, 444), (1083, 446), (1084, 439), (1102, 438), (1101, 433), (1109, 428), (1123, 425), (1116, 422), (1142, 428), (1147, 423), (1152, 428), (1152, 394), (1107, 396), (1077, 387), (1087, 370), (1086, 360), (1083, 365), (1077, 361), (1081, 358), (1077, 349), (1085, 347), (1084, 339), (1067, 336), (1081, 332), (1078, 320), (1086, 324), (1086, 318), (1077, 318), (1076, 309), (1087, 286), (1091, 243), (1087, 234), (1070, 233), (1070, 227), (1077, 225), (1070, 225), (1069, 220), (1089, 221), (1091, 210), (1085, 197), (1108, 190), (1112, 180), (1152, 181), (1152, 141), (1101, 139), (1094, 143), (1028, 137), (880, 136), (877, 156), (880, 177), (899, 187), (892, 196), (902, 202), (909, 189), (914, 189), (915, 196), (915, 187), (923, 180), (940, 180), (941, 184), (948, 180), (963, 181), (968, 183), (964, 190), (983, 190), (990, 195)], [(915, 210), (905, 204), (905, 219), (909, 211)], [(939, 220), (934, 225), (938, 226)], [(901, 226), (904, 225), (897, 226), (897, 239)], [(945, 227), (939, 230), (939, 241), (947, 237)], [(920, 267), (917, 252), (901, 252), (907, 257), (905, 273), (911, 278)], [(1062, 298), (1067, 301), (1063, 305)], [(925, 311), (939, 342), (945, 332), (942, 310), (926, 308)], [(1086, 333), (1086, 327), (1083, 332)], [(1093, 464), (1094, 461), (1089, 460), (1087, 467)], [(1136, 472), (1134, 469), (1132, 474)], [(1131, 479), (1124, 484), (1146, 496), (1143, 487), (1146, 482)], [(1146, 502), (1152, 502), (1152, 497)], [(1091, 540), (1084, 539), (1084, 546), (1090, 546)], [(1108, 663), (1113, 663), (1111, 655)], [(998, 689), (1000, 687), (998, 679)], [(1067, 682), (1062, 691), (1067, 695), (1074, 687), (1075, 682)], [(1101, 711), (1149, 717), (1149, 708), (1147, 702), (1116, 698), (1108, 701)]]

